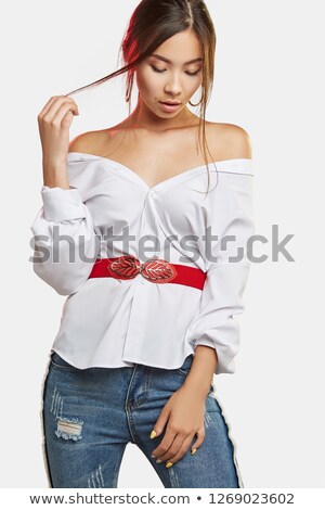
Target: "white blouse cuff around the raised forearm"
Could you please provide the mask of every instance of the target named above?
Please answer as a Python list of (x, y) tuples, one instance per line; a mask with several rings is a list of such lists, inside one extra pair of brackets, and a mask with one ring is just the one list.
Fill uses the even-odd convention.
[(42, 186), (44, 218), (48, 221), (65, 221), (82, 219), (86, 217), (84, 207), (77, 188), (69, 190), (63, 188), (49, 188)]

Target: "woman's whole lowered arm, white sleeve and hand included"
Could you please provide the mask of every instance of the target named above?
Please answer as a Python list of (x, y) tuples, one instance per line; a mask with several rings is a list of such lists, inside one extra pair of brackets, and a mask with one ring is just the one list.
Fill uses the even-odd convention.
[(154, 425), (156, 435), (167, 425), (162, 441), (153, 451), (161, 461), (169, 461), (167, 467), (180, 460), (190, 446), (194, 452), (204, 442), (205, 401), (213, 372), (235, 371), (234, 357), (239, 348), (239, 322), (235, 316), (244, 311), (243, 293), (252, 252), (248, 241), (255, 232), (253, 174), (248, 160), (238, 158), (229, 165), (235, 168), (229, 166), (227, 171), (220, 173), (211, 214), (212, 232), (218, 234), (218, 242), (211, 246), (214, 258), (207, 260), (200, 310), (186, 335), (186, 342), (195, 346), (195, 356), (184, 383), (169, 398)]

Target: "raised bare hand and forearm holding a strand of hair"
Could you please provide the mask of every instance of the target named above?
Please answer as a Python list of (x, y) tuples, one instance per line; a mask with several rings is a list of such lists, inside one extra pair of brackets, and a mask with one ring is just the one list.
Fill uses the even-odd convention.
[(44, 183), (48, 181), (48, 186), (62, 181), (69, 187), (66, 161), (74, 115), (79, 115), (75, 101), (67, 95), (54, 95), (37, 117), (43, 152)]

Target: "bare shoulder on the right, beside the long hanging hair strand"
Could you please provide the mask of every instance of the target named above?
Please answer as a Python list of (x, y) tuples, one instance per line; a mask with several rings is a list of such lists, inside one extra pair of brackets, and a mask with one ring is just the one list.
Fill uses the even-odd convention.
[(251, 140), (248, 132), (235, 124), (211, 123), (216, 150), (222, 152), (220, 158), (252, 157)]

